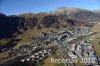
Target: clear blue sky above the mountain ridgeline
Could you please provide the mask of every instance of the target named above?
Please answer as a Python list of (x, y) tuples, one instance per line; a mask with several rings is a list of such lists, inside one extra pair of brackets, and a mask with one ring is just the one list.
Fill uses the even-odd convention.
[(60, 7), (100, 10), (100, 0), (0, 0), (0, 13), (6, 15), (49, 12)]

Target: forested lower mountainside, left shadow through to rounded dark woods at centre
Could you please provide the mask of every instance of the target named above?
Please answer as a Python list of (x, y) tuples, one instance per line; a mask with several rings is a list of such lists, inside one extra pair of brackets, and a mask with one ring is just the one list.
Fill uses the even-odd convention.
[(0, 38), (12, 37), (14, 33), (24, 33), (30, 29), (41, 29), (57, 24), (57, 16), (51, 14), (26, 13), (6, 16), (0, 14)]

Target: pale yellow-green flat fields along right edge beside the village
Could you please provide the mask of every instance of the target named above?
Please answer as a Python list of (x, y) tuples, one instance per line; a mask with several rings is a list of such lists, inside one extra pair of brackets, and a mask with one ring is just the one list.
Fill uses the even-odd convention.
[[(92, 29), (92, 32), (100, 32), (100, 24), (96, 24)], [(91, 39), (91, 37), (94, 37), (93, 40), (91, 40), (91, 44), (93, 45), (93, 47), (95, 48), (95, 51), (97, 53), (97, 55), (100, 56), (100, 33), (92, 35), (90, 37), (86, 37), (85, 40), (89, 40)]]

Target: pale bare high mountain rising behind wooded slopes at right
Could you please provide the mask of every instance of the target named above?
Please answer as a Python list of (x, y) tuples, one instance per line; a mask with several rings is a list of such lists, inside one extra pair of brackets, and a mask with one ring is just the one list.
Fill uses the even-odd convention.
[(81, 22), (91, 22), (91, 21), (99, 21), (100, 16), (93, 13), (92, 11), (80, 8), (58, 8), (54, 11), (50, 12), (53, 15), (63, 16), (68, 19), (77, 20)]

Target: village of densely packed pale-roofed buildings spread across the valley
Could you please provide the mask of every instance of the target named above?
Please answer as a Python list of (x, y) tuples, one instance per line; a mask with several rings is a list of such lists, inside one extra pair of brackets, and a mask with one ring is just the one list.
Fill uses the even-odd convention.
[[(21, 57), (20, 62), (34, 61), (34, 64), (40, 64), (44, 58), (51, 55), (53, 48), (44, 48), (44, 45), (55, 45), (59, 48), (62, 56), (66, 59), (87, 59), (83, 61), (86, 65), (99, 65), (100, 61), (90, 40), (83, 41), (82, 36), (93, 34), (90, 27), (81, 26), (74, 29), (59, 29), (57, 31), (41, 32), (42, 35), (32, 36), (35, 42), (33, 45), (24, 45), (19, 48), (10, 48), (8, 55), (10, 57)], [(79, 40), (78, 40), (79, 39)], [(66, 52), (68, 56), (64, 53)], [(92, 58), (92, 61), (91, 61)], [(90, 60), (88, 60), (90, 59)], [(67, 63), (68, 66), (74, 66)]]

